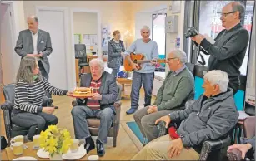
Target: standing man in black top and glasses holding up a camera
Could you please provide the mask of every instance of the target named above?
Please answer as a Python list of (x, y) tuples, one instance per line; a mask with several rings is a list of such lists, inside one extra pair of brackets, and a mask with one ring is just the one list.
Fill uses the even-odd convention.
[(240, 2), (230, 2), (223, 7), (220, 20), (225, 29), (219, 32), (214, 44), (211, 44), (201, 34), (191, 37), (203, 47), (203, 53), (210, 55), (208, 71), (221, 70), (228, 73), (228, 86), (233, 89), (233, 95), (240, 85), (239, 68), (242, 66), (248, 46), (248, 31), (240, 22), (244, 16), (244, 10)]

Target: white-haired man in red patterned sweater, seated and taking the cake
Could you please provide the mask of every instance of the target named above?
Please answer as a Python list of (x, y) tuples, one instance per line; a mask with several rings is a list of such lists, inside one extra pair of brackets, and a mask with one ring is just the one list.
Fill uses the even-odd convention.
[(71, 111), (76, 139), (85, 139), (84, 148), (87, 152), (95, 148), (88, 129), (87, 118), (100, 119), (98, 130), (97, 154), (103, 156), (103, 143), (107, 142), (108, 130), (113, 123), (115, 109), (114, 102), (118, 100), (118, 86), (114, 76), (104, 71), (104, 63), (100, 59), (93, 59), (89, 63), (91, 73), (81, 76), (81, 87), (93, 88), (93, 96), (87, 99), (77, 99), (78, 105)]

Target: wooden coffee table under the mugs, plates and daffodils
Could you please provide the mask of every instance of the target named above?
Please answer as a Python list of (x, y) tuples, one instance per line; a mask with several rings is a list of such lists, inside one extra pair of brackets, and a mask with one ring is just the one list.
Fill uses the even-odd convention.
[[(18, 157), (25, 157), (25, 156), (33, 157), (33, 158), (36, 158), (38, 160), (49, 160), (49, 159), (41, 159), (41, 158), (38, 157), (38, 155), (37, 155), (38, 150), (33, 149), (33, 142), (28, 142), (28, 143), (26, 143), (26, 145), (28, 146), (28, 149), (24, 149), (22, 155), (14, 155), (13, 150), (10, 149), (10, 147), (6, 148), (5, 150), (6, 150), (8, 160), (13, 160), (13, 159), (17, 159)], [(96, 152), (94, 152), (94, 151), (96, 151), (96, 150), (93, 150), (89, 154), (84, 155), (83, 158), (77, 159), (77, 160), (88, 160), (89, 155), (92, 155), (92, 154), (95, 155), (96, 154)], [(101, 158), (99, 158), (99, 160), (101, 160)]]

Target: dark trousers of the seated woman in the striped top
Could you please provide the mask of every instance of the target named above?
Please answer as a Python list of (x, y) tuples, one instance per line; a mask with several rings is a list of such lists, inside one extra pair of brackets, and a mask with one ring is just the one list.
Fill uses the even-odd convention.
[(18, 126), (29, 128), (28, 139), (33, 140), (34, 134), (40, 134), (42, 130), (48, 129), (49, 125), (57, 124), (58, 118), (55, 115), (44, 112), (39, 112), (38, 114), (23, 112), (13, 115), (12, 121)]

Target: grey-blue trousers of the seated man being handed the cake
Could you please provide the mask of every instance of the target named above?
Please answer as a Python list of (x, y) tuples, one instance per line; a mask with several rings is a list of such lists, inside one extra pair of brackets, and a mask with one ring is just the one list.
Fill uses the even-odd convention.
[(111, 108), (108, 107), (103, 110), (91, 110), (88, 106), (78, 105), (73, 107), (71, 114), (73, 116), (73, 126), (76, 139), (86, 139), (91, 136), (86, 119), (97, 117), (100, 119), (98, 139), (102, 143), (107, 143), (108, 130), (111, 128), (114, 116)]

